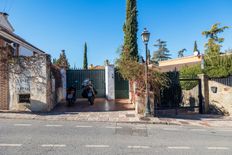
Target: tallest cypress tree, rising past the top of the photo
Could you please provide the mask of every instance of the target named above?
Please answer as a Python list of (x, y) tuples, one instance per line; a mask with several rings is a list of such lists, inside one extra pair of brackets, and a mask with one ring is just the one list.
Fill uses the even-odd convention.
[(137, 44), (137, 1), (126, 1), (126, 21), (123, 26), (124, 31), (124, 46), (123, 51), (129, 53), (129, 57), (135, 58), (138, 61), (138, 44)]

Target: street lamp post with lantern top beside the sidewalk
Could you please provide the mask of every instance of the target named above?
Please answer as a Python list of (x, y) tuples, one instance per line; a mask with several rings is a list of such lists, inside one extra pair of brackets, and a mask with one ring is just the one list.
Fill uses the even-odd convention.
[(142, 33), (142, 39), (143, 39), (143, 43), (145, 44), (145, 49), (146, 49), (146, 64), (145, 64), (146, 98), (145, 98), (145, 113), (144, 113), (144, 116), (146, 117), (151, 115), (149, 88), (148, 88), (148, 49), (147, 49), (147, 45), (149, 42), (149, 38), (150, 38), (150, 33), (147, 31), (146, 28), (144, 28), (144, 31)]

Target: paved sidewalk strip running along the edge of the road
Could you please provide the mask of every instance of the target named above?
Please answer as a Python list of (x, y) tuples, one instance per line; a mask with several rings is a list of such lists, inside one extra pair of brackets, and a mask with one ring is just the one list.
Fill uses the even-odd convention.
[(167, 125), (191, 125), (201, 127), (232, 128), (232, 117), (217, 115), (176, 115), (169, 117), (148, 117), (136, 115), (133, 110), (110, 112), (49, 112), (49, 113), (12, 113), (0, 112), (2, 119), (37, 120), (75, 120), (95, 122), (149, 123)]

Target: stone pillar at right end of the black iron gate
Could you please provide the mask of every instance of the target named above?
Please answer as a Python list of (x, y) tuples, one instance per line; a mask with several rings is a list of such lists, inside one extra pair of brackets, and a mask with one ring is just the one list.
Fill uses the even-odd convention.
[(202, 112), (209, 112), (209, 79), (205, 74), (199, 74), (201, 80), (201, 95), (202, 95)]

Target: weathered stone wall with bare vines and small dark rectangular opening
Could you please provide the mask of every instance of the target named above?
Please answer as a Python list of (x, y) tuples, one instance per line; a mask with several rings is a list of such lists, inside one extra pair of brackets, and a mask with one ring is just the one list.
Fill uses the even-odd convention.
[[(55, 101), (50, 56), (14, 57), (9, 63), (9, 92), (9, 110), (51, 110)], [(30, 103), (20, 103), (23, 95), (30, 95)]]

